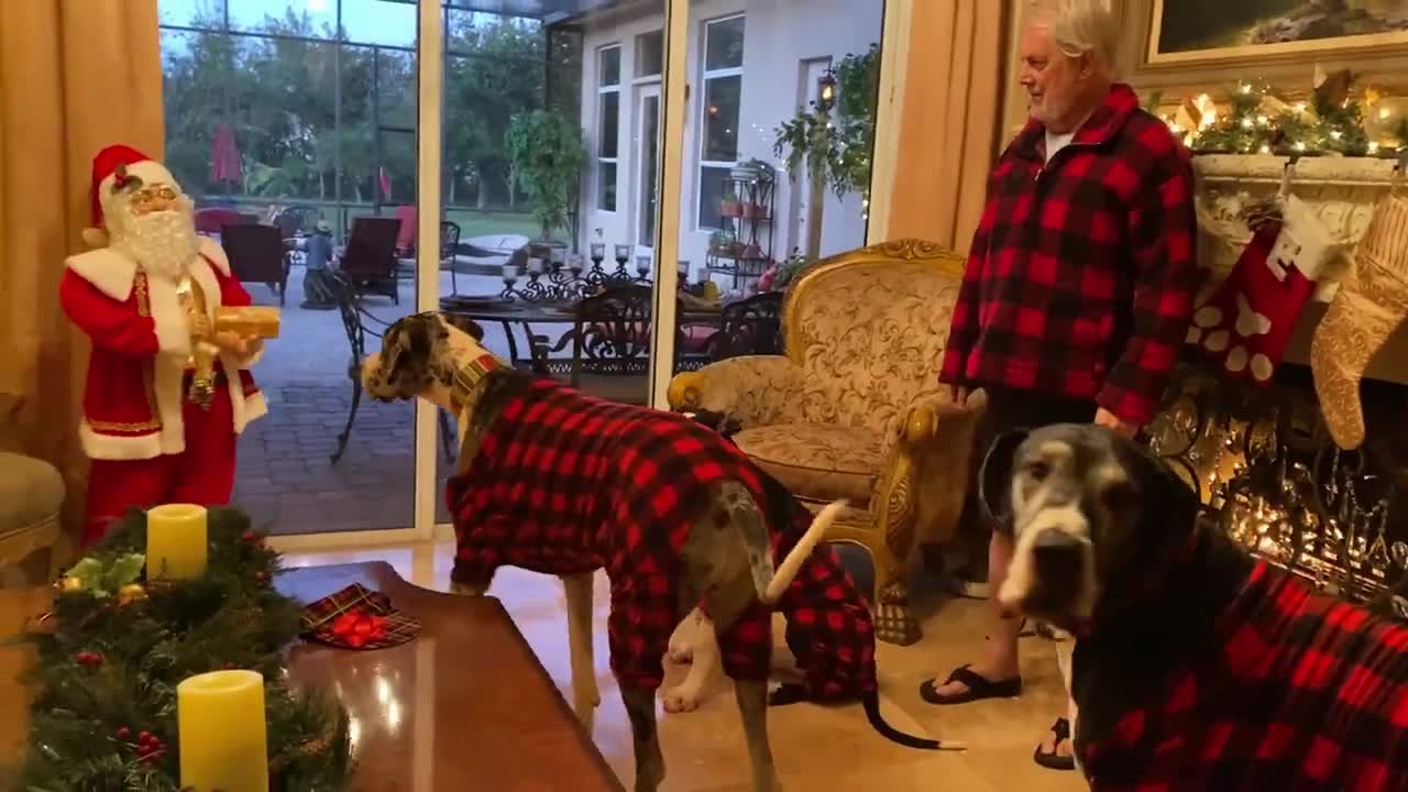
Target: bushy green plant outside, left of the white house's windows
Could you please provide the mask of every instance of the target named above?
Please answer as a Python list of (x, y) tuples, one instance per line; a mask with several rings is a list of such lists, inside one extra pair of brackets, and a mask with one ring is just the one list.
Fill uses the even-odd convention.
[(520, 113), (508, 121), (508, 158), (524, 192), (532, 200), (541, 241), (553, 242), (555, 231), (569, 231), (586, 149), (582, 128), (555, 110)]

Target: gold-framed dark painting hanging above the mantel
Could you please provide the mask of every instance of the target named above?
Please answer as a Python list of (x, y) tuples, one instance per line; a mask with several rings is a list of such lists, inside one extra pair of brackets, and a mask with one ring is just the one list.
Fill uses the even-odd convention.
[(1148, 63), (1408, 44), (1402, 0), (1153, 0)]

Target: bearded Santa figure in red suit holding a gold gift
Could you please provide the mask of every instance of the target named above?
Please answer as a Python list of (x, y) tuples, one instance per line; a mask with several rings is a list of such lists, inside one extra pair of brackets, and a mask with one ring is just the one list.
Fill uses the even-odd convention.
[[(93, 340), (79, 423), (93, 459), (84, 547), (128, 507), (228, 503), (237, 435), (266, 412), (248, 371), (263, 342), (211, 333), (215, 310), (248, 306), (249, 293), (196, 234), (170, 172), (113, 145), (93, 159), (92, 190), (84, 240), (101, 247), (70, 256), (59, 283), (63, 311)], [(215, 348), (204, 404), (191, 396), (193, 338)]]

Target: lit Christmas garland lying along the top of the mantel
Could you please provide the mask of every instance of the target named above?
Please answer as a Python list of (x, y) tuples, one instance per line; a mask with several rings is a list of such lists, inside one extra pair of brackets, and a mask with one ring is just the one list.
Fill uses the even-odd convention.
[(1408, 97), (1373, 87), (1352, 94), (1347, 70), (1316, 78), (1309, 101), (1287, 103), (1269, 85), (1243, 82), (1222, 106), (1205, 93), (1171, 107), (1153, 94), (1145, 106), (1198, 154), (1408, 155)]

